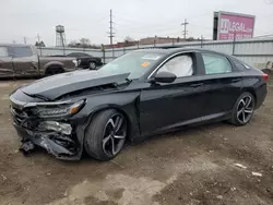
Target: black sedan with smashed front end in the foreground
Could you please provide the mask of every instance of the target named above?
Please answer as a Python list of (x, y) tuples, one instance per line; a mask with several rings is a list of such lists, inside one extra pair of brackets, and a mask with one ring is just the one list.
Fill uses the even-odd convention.
[(36, 81), (10, 95), (21, 149), (61, 159), (83, 150), (98, 160), (126, 141), (211, 121), (247, 124), (266, 96), (268, 75), (238, 59), (202, 49), (127, 53), (98, 71)]

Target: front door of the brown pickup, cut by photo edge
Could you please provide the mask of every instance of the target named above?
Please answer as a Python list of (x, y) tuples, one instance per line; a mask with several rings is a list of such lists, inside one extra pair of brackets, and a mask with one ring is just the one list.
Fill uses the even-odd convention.
[(12, 76), (12, 57), (9, 56), (8, 48), (0, 46), (0, 76)]

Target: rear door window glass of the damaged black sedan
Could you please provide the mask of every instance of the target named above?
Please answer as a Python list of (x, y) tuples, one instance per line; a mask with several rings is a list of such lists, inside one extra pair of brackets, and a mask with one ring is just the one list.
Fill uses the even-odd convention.
[(230, 62), (225, 57), (213, 53), (202, 53), (202, 57), (205, 74), (230, 73), (233, 71)]

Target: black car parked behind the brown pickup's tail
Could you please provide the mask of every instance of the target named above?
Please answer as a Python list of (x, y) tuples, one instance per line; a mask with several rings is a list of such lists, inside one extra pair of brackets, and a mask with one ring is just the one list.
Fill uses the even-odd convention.
[(68, 57), (76, 58), (79, 68), (95, 70), (97, 67), (103, 65), (100, 58), (92, 57), (84, 52), (71, 52)]

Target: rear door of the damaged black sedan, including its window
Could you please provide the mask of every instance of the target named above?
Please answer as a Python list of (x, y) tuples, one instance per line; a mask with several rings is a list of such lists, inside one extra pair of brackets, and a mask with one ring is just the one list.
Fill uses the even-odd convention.
[(229, 59), (215, 52), (202, 52), (203, 74), (201, 75), (205, 96), (203, 119), (210, 120), (232, 111), (241, 94), (241, 73), (236, 72)]

